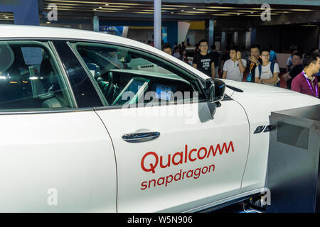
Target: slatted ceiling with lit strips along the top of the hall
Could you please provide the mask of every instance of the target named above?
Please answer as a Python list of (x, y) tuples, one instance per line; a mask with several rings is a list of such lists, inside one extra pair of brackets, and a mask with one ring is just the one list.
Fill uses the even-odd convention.
[[(152, 18), (154, 14), (153, 1), (84, 1), (84, 0), (43, 0), (43, 11), (48, 12), (48, 6), (55, 4), (58, 15), (63, 18), (73, 16), (102, 16), (108, 18)], [(320, 10), (320, 6), (272, 5), (272, 16), (288, 15), (290, 13), (311, 12)], [(163, 18), (206, 19), (219, 17), (260, 17), (260, 5), (240, 4), (183, 4), (162, 3)]]

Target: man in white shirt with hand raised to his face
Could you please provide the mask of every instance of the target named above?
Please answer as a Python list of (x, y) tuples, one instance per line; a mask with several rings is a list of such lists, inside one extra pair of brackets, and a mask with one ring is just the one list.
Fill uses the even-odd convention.
[(223, 65), (223, 79), (242, 81), (243, 72), (247, 61), (241, 58), (241, 52), (237, 46), (230, 48), (230, 59)]

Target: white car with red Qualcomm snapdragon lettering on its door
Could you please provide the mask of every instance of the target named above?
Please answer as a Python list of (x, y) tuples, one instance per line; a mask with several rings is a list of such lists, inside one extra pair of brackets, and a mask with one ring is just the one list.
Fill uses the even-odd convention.
[[(193, 212), (265, 187), (271, 111), (319, 104), (209, 79), (114, 35), (0, 26), (0, 212)], [(226, 85), (226, 86), (225, 86)]]

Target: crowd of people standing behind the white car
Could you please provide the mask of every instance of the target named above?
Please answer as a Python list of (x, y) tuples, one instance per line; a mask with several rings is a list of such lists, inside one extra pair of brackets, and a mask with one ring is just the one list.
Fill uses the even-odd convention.
[[(166, 43), (163, 45), (163, 50), (183, 62), (188, 62), (186, 46), (185, 43), (181, 45), (176, 43), (174, 48), (171, 48), (171, 45)], [(245, 52), (237, 45), (227, 46), (223, 55), (215, 50), (215, 45), (211, 46), (210, 51), (208, 49), (207, 40), (198, 42), (192, 66), (209, 77), (277, 87), (280, 87), (282, 78), (286, 82), (287, 89), (320, 98), (320, 50), (316, 48), (302, 54), (296, 46), (290, 47), (291, 55), (287, 59), (286, 72), (281, 73), (281, 77), (277, 53), (272, 50), (271, 45), (266, 48), (252, 45), (249, 56), (245, 56)]]

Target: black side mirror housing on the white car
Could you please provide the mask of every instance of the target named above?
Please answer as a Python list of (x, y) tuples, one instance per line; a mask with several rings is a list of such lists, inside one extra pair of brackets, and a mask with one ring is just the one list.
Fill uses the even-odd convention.
[(206, 79), (206, 98), (210, 103), (223, 100), (225, 96), (225, 82), (220, 79)]

